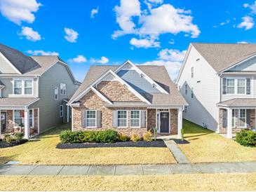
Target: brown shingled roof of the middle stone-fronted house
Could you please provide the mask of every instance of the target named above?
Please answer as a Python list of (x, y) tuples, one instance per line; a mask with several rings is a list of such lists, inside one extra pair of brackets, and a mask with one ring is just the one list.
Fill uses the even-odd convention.
[[(100, 66), (91, 66), (86, 78), (84, 78), (83, 83), (80, 85), (78, 90), (74, 93), (71, 98), (74, 100), (83, 90), (86, 90), (94, 81), (97, 80), (100, 76), (105, 74), (107, 71), (112, 70), (115, 71), (121, 67), (121, 65), (100, 65)], [(144, 74), (147, 74), (155, 83), (158, 83), (161, 88), (166, 90), (169, 94), (166, 93), (150, 93), (150, 94), (142, 94), (151, 104), (166, 104), (166, 105), (187, 105), (187, 102), (184, 100), (180, 92), (177, 90), (173, 81), (170, 80), (170, 76), (166, 71), (166, 67), (156, 66), (156, 65), (136, 65)]]

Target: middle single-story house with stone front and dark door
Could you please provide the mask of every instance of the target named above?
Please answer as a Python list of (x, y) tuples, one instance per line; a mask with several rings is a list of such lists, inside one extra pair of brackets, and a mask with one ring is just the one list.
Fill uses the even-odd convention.
[(142, 136), (147, 130), (179, 135), (187, 102), (163, 66), (92, 66), (68, 103), (72, 130), (113, 128)]

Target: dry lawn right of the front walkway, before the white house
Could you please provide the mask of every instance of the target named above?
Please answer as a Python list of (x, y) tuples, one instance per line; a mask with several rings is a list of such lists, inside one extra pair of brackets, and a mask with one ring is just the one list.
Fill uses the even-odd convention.
[(189, 144), (179, 147), (191, 163), (256, 161), (256, 147), (241, 146), (189, 121), (184, 121), (183, 128)]

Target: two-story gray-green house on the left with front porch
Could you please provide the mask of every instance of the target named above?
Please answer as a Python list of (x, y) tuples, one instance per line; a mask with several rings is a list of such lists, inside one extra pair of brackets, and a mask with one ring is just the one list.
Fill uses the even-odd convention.
[(0, 44), (0, 135), (39, 134), (71, 117), (67, 107), (79, 83), (58, 56), (24, 55)]

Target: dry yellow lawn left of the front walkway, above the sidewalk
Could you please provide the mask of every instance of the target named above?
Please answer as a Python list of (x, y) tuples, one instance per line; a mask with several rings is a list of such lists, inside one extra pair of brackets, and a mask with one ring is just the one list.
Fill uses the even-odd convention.
[(25, 164), (39, 165), (128, 165), (176, 163), (167, 148), (90, 148), (56, 149), (59, 133), (67, 128), (62, 125), (50, 130), (38, 140), (20, 146), (0, 149), (0, 164), (8, 160), (20, 160)]

